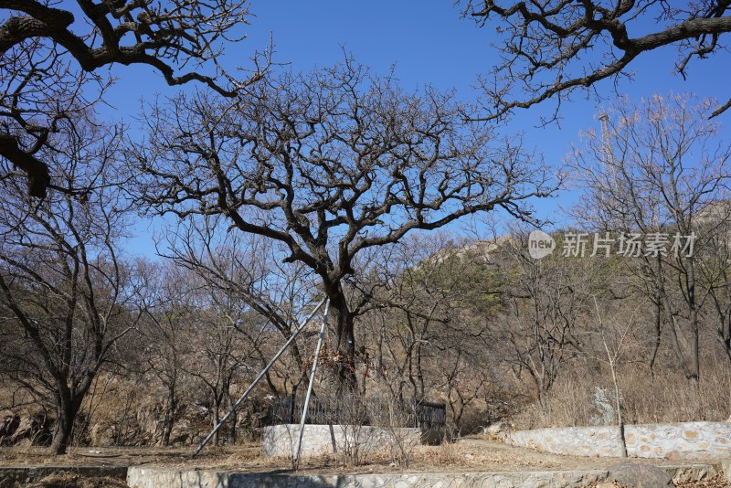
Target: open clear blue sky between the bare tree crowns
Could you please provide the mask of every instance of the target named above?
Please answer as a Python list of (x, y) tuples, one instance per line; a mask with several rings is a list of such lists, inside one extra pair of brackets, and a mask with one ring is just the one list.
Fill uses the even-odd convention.
[[(430, 2), (372, 0), (370, 2), (295, 0), (254, 0), (250, 4), (249, 37), (226, 50), (228, 67), (249, 66), (249, 56), (256, 48), (265, 48), (270, 36), (275, 45), (275, 60), (291, 63), (294, 70), (329, 66), (343, 58), (343, 48), (355, 58), (383, 73), (396, 65), (397, 77), (405, 88), (431, 84), (440, 89), (456, 89), (462, 98), (474, 96), (471, 83), (476, 75), (488, 71), (497, 53), (491, 48), (494, 27), (476, 27), (461, 18), (452, 0)], [(654, 26), (641, 26), (651, 30)], [(640, 33), (633, 33), (631, 35)], [(721, 52), (703, 62), (695, 61), (687, 80), (673, 73), (677, 52), (665, 48), (646, 53), (631, 69), (633, 81), (620, 84), (620, 92), (631, 98), (653, 93), (694, 92), (726, 101), (731, 97), (731, 63), (729, 54)], [(120, 67), (113, 69), (120, 77), (109, 100), (117, 117), (130, 120), (139, 108), (141, 97), (172, 90), (152, 69)], [(599, 85), (609, 94), (609, 83)], [(578, 133), (598, 122), (597, 103), (581, 96), (563, 106), (563, 121), (546, 128), (536, 128), (544, 109), (521, 111), (502, 128), (506, 133), (524, 133), (529, 146), (544, 154), (546, 163), (560, 164)], [(105, 111), (106, 112), (106, 111)], [(721, 116), (731, 126), (731, 113)], [(557, 205), (568, 204), (569, 195), (542, 204), (543, 215), (556, 215)], [(150, 239), (146, 225), (137, 226), (138, 238), (130, 241), (130, 251), (147, 254)], [(152, 252), (150, 250), (149, 252)]]

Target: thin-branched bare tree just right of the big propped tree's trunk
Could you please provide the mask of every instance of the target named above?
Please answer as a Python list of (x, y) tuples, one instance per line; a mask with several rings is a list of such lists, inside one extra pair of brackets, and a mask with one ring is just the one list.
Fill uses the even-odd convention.
[[(397, 398), (425, 399), (447, 385), (443, 378), (453, 384), (487, 367), (487, 321), (500, 307), (497, 270), (485, 262), (486, 246), (450, 240), (446, 232), (409, 236), (378, 263), (386, 286), (374, 295), (361, 334), (375, 373), (388, 374)], [(454, 357), (471, 362), (472, 373), (452, 365)]]

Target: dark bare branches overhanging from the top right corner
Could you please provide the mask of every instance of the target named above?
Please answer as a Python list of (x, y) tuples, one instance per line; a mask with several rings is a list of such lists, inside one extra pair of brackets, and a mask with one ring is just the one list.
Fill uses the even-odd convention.
[[(482, 117), (487, 119), (549, 99), (556, 101), (556, 117), (561, 102), (577, 90), (629, 76), (635, 59), (658, 48), (678, 49), (675, 70), (684, 78), (691, 61), (720, 56), (731, 32), (727, 0), (683, 5), (656, 0), (461, 3), (465, 16), (482, 27), (494, 26), (499, 39), (501, 61), (481, 79), (487, 95)], [(641, 35), (631, 37), (637, 32)], [(729, 106), (731, 100), (709, 114)]]

